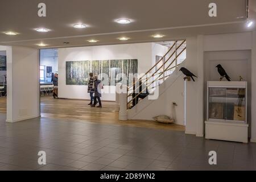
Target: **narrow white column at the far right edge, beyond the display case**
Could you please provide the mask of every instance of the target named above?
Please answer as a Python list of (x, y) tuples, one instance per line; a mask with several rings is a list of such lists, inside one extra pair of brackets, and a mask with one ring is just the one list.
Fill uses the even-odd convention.
[(256, 142), (256, 31), (251, 48), (251, 142)]

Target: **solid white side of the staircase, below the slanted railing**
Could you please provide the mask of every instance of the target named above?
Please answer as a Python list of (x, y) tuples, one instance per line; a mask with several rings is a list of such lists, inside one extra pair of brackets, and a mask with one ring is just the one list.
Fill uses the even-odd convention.
[(127, 110), (128, 119), (153, 120), (152, 117), (156, 115), (168, 115), (174, 118), (176, 124), (184, 125), (184, 75), (179, 72), (179, 68), (184, 63), (185, 61), (159, 85), (157, 99), (150, 100), (146, 97), (132, 109)]

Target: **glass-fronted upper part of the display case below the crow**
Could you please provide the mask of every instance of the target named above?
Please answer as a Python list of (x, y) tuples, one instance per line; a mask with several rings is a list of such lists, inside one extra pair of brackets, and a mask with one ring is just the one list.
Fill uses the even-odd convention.
[(208, 82), (208, 121), (247, 122), (247, 82)]

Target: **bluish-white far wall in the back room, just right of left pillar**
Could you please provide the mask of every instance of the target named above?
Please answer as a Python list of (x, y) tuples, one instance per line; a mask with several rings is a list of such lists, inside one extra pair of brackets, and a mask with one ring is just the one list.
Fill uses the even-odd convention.
[[(53, 73), (58, 72), (57, 49), (41, 49), (40, 65), (45, 67), (52, 67)], [(51, 82), (51, 80), (51, 77), (46, 77), (46, 82)]]

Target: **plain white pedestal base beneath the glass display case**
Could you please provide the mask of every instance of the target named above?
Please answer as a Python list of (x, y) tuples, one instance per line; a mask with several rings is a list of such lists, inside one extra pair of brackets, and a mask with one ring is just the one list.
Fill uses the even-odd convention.
[(205, 121), (205, 138), (248, 142), (248, 124)]

